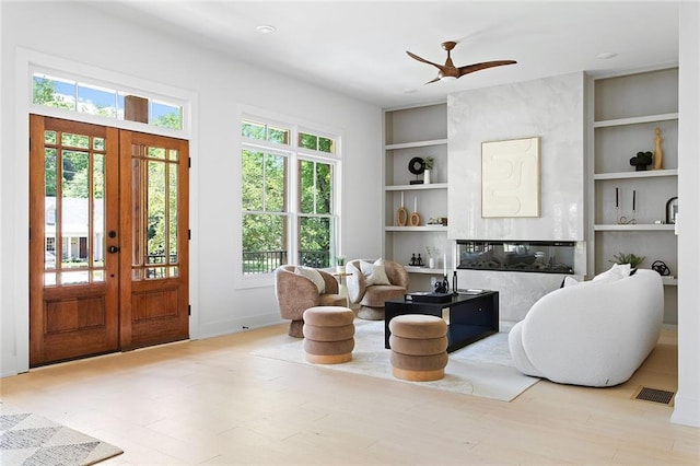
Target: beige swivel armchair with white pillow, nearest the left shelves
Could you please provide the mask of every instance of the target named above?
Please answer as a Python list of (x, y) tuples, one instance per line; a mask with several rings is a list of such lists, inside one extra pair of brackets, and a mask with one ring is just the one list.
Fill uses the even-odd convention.
[[(377, 271), (376, 277), (368, 275), (362, 270), (361, 261), (365, 263), (365, 271), (372, 271), (372, 267), (377, 263), (368, 260), (350, 260), (346, 265), (348, 276), (348, 298), (351, 303), (360, 304), (358, 317), (365, 321), (383, 321), (384, 303), (387, 300), (404, 299), (408, 290), (408, 272), (402, 265), (393, 260), (383, 261), (383, 271)], [(378, 280), (377, 280), (378, 278)]]

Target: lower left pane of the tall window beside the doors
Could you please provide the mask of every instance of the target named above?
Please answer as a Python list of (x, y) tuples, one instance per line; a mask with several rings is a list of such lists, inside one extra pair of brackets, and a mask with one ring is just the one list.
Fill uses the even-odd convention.
[(243, 215), (243, 273), (269, 273), (287, 258), (287, 215)]

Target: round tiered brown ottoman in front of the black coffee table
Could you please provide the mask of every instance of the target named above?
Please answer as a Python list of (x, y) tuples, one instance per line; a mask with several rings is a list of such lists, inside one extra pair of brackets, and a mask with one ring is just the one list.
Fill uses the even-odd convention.
[(432, 315), (406, 314), (389, 322), (392, 373), (412, 382), (438, 381), (447, 365), (447, 324)]

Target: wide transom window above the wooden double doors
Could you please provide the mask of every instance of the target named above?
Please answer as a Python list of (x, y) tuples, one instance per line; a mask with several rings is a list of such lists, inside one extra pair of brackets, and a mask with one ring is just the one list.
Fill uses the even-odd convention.
[(183, 129), (183, 106), (147, 96), (136, 96), (139, 97), (136, 102), (143, 103), (141, 113), (144, 119), (129, 118), (128, 97), (133, 95), (124, 90), (109, 89), (43, 72), (33, 73), (32, 90), (32, 102), (37, 105), (65, 108), (106, 118), (132, 119), (163, 128)]

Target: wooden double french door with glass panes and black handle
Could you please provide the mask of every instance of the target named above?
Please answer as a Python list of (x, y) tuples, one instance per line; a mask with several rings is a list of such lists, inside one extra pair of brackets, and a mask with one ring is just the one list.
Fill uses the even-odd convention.
[(188, 338), (187, 141), (30, 126), (30, 365)]

